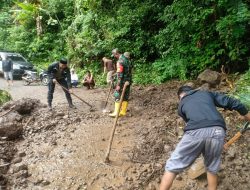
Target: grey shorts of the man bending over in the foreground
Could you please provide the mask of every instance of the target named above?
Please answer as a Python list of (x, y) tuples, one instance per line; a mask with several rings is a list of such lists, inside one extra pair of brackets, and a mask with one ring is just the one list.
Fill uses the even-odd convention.
[(165, 170), (180, 173), (202, 154), (207, 171), (216, 174), (220, 167), (224, 138), (225, 130), (222, 127), (202, 128), (185, 132), (168, 159)]

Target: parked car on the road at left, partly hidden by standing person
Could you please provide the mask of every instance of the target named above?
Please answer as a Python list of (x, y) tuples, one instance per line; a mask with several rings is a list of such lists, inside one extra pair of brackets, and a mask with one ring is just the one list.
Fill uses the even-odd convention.
[(33, 65), (29, 63), (21, 54), (14, 52), (0, 51), (0, 73), (3, 73), (2, 61), (8, 57), (13, 62), (13, 77), (22, 78), (25, 70), (33, 70)]

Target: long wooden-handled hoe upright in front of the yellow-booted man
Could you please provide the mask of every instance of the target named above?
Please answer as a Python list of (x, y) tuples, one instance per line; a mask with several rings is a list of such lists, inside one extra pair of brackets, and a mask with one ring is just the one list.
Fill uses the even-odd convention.
[(123, 89), (122, 89), (122, 95), (121, 95), (121, 98), (120, 98), (120, 104), (119, 104), (119, 109), (118, 109), (119, 111), (117, 112), (117, 114), (115, 116), (113, 129), (112, 129), (111, 136), (110, 136), (110, 139), (109, 139), (109, 146), (108, 146), (108, 150), (107, 150), (106, 157), (105, 157), (105, 163), (110, 162), (110, 160), (109, 160), (110, 149), (111, 149), (111, 146), (112, 146), (112, 142), (113, 142), (113, 138), (114, 138), (114, 134), (115, 134), (115, 129), (116, 129), (116, 124), (117, 124), (117, 121), (118, 121), (118, 118), (119, 118), (120, 109), (121, 109), (122, 101), (123, 101), (123, 98), (124, 98), (125, 90), (126, 90), (128, 85), (129, 85), (129, 82), (126, 81), (124, 86), (123, 86)]

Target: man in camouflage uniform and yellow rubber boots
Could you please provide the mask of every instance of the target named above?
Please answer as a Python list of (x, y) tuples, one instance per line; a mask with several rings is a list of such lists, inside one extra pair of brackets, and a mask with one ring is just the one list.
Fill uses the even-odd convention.
[(116, 114), (120, 111), (119, 110), (120, 96), (125, 82), (128, 81), (129, 85), (126, 87), (124, 99), (121, 105), (121, 111), (119, 113), (119, 116), (125, 116), (127, 113), (130, 86), (132, 82), (131, 64), (130, 61), (123, 54), (121, 54), (117, 48), (112, 50), (112, 56), (118, 59), (116, 64), (117, 84), (114, 92), (115, 110), (113, 113), (109, 114), (109, 116), (115, 117)]

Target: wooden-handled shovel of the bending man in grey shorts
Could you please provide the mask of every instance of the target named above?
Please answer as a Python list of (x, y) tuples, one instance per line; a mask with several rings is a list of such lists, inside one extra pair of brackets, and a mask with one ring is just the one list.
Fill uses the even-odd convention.
[[(250, 130), (249, 122), (246, 122), (243, 126), (243, 128), (237, 132), (233, 138), (231, 138), (226, 144), (224, 144), (224, 149), (227, 150), (228, 147), (233, 144), (235, 141), (237, 141), (247, 130)], [(203, 159), (199, 159), (195, 164), (193, 164), (190, 169), (188, 170), (188, 176), (191, 179), (195, 179), (202, 174), (206, 173), (206, 168), (204, 165)]]

